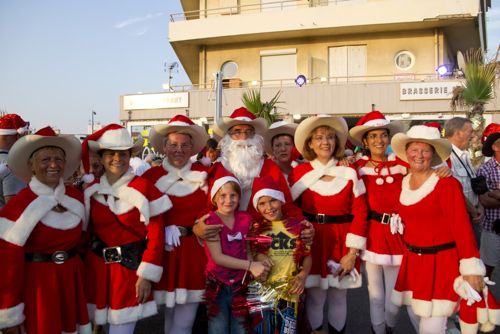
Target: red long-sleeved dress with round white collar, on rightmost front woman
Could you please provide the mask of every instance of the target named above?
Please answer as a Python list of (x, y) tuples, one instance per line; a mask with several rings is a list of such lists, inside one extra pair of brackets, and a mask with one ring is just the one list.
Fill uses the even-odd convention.
[(405, 249), (392, 302), (411, 305), (422, 317), (447, 317), (456, 309), (453, 282), (459, 275), (484, 275), (484, 265), (469, 223), (460, 183), (432, 174), (419, 189), (403, 179), (399, 214), (405, 226), (404, 242), (415, 247), (456, 246), (436, 254)]

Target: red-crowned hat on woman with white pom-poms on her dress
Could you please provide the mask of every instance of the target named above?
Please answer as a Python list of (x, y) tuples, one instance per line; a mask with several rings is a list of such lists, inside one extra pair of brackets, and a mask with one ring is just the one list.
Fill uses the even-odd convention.
[(396, 133), (402, 132), (404, 124), (400, 121), (389, 121), (378, 110), (371, 111), (361, 117), (354, 127), (349, 130), (349, 136), (352, 143), (356, 146), (363, 147), (363, 137), (372, 130), (387, 129), (392, 137)]

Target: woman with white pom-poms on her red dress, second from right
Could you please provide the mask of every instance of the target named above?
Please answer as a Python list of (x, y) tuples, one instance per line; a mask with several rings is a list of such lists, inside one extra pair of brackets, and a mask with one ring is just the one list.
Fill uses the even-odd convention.
[[(397, 213), (401, 183), (407, 164), (395, 154), (387, 154), (391, 137), (403, 131), (403, 123), (390, 122), (380, 111), (363, 116), (349, 130), (350, 140), (363, 147), (363, 155), (355, 166), (366, 186), (368, 234), (365, 261), (370, 299), (370, 319), (375, 334), (392, 333), (399, 307), (391, 302), (391, 292), (403, 258), (403, 242), (391, 218)], [(400, 231), (401, 232), (401, 231)]]

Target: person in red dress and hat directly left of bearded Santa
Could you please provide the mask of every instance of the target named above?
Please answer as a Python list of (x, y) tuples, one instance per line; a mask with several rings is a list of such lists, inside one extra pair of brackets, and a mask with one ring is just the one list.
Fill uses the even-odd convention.
[(195, 220), (207, 206), (207, 167), (192, 163), (208, 140), (205, 129), (184, 115), (154, 126), (149, 134), (156, 152), (165, 154), (161, 166), (143, 177), (167, 194), (173, 206), (163, 215), (164, 275), (155, 286), (155, 299), (165, 308), (165, 333), (191, 333), (205, 291), (207, 259), (192, 233)]

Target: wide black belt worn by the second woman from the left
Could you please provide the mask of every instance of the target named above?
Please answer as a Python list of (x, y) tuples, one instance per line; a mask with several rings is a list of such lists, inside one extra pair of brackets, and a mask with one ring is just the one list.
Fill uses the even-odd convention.
[(138, 240), (128, 244), (108, 247), (104, 241), (94, 237), (90, 249), (104, 259), (104, 263), (119, 263), (129, 269), (137, 269), (142, 260), (142, 253), (146, 249), (147, 241)]

